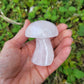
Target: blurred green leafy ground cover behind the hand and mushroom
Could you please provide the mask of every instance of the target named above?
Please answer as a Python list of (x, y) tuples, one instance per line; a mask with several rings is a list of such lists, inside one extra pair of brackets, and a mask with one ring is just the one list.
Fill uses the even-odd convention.
[(65, 23), (73, 32), (70, 56), (43, 84), (84, 84), (84, 0), (0, 0), (0, 50), (25, 19)]

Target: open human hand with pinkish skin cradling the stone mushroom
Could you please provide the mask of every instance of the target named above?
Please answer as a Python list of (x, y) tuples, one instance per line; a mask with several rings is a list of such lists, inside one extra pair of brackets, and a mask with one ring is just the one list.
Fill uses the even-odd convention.
[(31, 58), (35, 40), (25, 42), (28, 38), (24, 35), (29, 24), (26, 20), (23, 28), (4, 44), (0, 52), (0, 84), (41, 84), (70, 54), (72, 32), (62, 23), (57, 26), (59, 36), (51, 39), (55, 54), (53, 63), (46, 67), (34, 65)]

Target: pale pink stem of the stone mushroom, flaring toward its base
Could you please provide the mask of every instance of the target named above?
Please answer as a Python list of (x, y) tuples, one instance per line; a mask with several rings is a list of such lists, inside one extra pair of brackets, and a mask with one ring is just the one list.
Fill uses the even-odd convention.
[(32, 57), (32, 62), (40, 66), (51, 65), (54, 59), (54, 52), (50, 39), (37, 38), (36, 49)]

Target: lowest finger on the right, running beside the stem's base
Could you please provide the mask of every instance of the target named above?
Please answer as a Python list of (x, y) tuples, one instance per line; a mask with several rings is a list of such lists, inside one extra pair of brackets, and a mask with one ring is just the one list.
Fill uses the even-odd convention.
[(63, 48), (60, 51), (60, 53), (54, 59), (53, 63), (50, 66), (48, 66), (49, 74), (54, 72), (67, 59), (67, 57), (70, 54), (70, 51), (71, 51), (70, 46)]

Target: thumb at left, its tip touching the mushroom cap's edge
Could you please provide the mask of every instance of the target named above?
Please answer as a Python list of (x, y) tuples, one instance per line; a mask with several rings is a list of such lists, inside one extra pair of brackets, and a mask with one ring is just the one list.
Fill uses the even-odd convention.
[(15, 45), (20, 47), (28, 39), (27, 37), (25, 37), (25, 30), (29, 24), (30, 24), (30, 21), (25, 20), (25, 24), (24, 24), (23, 28), (16, 34), (16, 36), (13, 39), (11, 39), (11, 41)]

